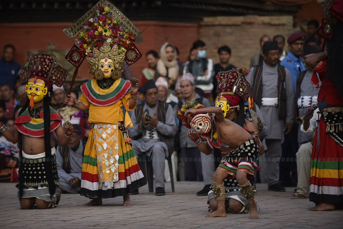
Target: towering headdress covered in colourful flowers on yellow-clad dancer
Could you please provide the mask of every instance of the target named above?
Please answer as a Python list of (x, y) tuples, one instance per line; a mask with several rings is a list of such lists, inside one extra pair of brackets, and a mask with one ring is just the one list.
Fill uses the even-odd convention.
[(69, 38), (79, 35), (66, 59), (75, 67), (79, 67), (86, 57), (92, 65), (90, 73), (93, 75), (96, 74), (99, 60), (102, 58), (114, 60), (117, 70), (115, 74), (121, 76), (124, 60), (131, 65), (142, 56), (133, 44), (141, 31), (107, 0), (98, 1), (63, 32)]

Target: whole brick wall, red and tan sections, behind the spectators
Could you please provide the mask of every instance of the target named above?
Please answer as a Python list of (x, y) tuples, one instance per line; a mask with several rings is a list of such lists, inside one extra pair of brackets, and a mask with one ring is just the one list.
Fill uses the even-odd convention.
[[(141, 31), (148, 27), (136, 42), (143, 57), (131, 65), (131, 69), (133, 75), (140, 78), (141, 70), (146, 67), (146, 52), (150, 49), (159, 52), (165, 42), (176, 45), (180, 50), (181, 61), (185, 62), (192, 43), (199, 38), (207, 44), (208, 57), (213, 58), (214, 62), (218, 62), (217, 48), (227, 44), (233, 52), (231, 62), (237, 66), (249, 66), (250, 56), (259, 51), (259, 37), (262, 34), (273, 36), (280, 33), (287, 37), (293, 32), (292, 23), (291, 16), (254, 15), (204, 18), (200, 24), (135, 21), (134, 24)], [(48, 44), (52, 43), (61, 65), (72, 73), (74, 68), (64, 56), (73, 42), (62, 32), (69, 25), (70, 23), (0, 24), (0, 46), (13, 44), (16, 47), (15, 60), (24, 65), (28, 51), (47, 50)], [(79, 80), (91, 78), (89, 69), (90, 65), (84, 61), (79, 70)]]

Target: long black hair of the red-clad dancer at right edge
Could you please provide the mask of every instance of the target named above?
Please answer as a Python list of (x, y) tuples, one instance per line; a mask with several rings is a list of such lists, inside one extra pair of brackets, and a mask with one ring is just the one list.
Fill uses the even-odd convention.
[(328, 46), (328, 73), (335, 83), (337, 92), (343, 97), (343, 23), (338, 22), (333, 28), (333, 35), (326, 41)]

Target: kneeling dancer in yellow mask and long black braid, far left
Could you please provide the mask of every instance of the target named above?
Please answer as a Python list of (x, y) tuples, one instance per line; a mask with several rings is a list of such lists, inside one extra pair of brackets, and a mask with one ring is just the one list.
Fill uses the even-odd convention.
[[(58, 65), (57, 57), (39, 53), (31, 55), (20, 75), (28, 100), (14, 121), (11, 131), (2, 124), (0, 132), (13, 143), (19, 142), (18, 197), (21, 209), (56, 207), (60, 198), (55, 148), (50, 138), (55, 131), (61, 146), (67, 146), (73, 126), (61, 126), (61, 117), (49, 106), (51, 84), (59, 87), (68, 72)], [(65, 132), (64, 132), (65, 131)]]

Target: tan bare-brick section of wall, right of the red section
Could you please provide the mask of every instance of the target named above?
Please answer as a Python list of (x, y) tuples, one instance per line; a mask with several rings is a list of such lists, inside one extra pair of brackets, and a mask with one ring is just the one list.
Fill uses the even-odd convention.
[(228, 45), (232, 50), (230, 62), (237, 67), (250, 67), (250, 56), (260, 50), (260, 37), (282, 34), (287, 39), (293, 32), (292, 24), (292, 16), (210, 17), (200, 24), (200, 37), (206, 43), (208, 58), (215, 63), (219, 62), (217, 49)]

